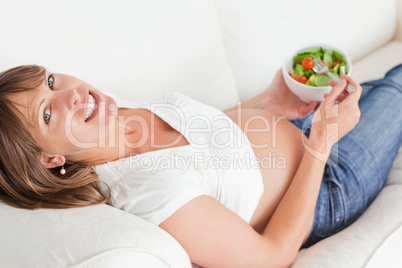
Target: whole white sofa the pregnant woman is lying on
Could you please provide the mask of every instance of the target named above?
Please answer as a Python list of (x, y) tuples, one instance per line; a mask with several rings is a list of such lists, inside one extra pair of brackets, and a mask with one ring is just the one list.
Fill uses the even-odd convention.
[[(298, 43), (340, 47), (358, 81), (380, 78), (402, 63), (401, 16), (402, 0), (1, 1), (0, 69), (41, 64), (120, 97), (180, 91), (225, 109), (263, 91)], [(363, 216), (293, 267), (402, 266), (401, 196), (402, 150)], [(0, 205), (0, 266), (191, 264), (165, 231), (107, 205)]]

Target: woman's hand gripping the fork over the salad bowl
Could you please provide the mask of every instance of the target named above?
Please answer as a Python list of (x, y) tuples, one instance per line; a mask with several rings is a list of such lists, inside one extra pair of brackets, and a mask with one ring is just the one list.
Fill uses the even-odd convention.
[[(339, 84), (330, 80), (329, 85), (333, 88), (324, 95), (325, 99), (312, 119), (308, 146), (323, 155), (329, 155), (331, 147), (351, 131), (360, 119), (358, 102), (362, 88), (347, 75), (341, 75), (341, 78)], [(354, 92), (346, 91), (347, 82), (355, 86)]]

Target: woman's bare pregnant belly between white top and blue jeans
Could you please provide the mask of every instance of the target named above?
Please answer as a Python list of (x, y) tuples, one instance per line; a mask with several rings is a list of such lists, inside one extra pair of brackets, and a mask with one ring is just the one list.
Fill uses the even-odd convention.
[(246, 134), (259, 159), (264, 193), (250, 225), (262, 233), (300, 164), (304, 134), (284, 117), (266, 110), (244, 109), (227, 115)]

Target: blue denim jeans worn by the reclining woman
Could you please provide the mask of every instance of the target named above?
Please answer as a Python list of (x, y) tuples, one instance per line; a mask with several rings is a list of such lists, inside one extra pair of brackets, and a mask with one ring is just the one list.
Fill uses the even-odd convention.
[[(312, 231), (302, 248), (353, 223), (383, 188), (402, 142), (402, 64), (362, 84), (359, 123), (325, 165)], [(291, 120), (309, 137), (314, 112)]]

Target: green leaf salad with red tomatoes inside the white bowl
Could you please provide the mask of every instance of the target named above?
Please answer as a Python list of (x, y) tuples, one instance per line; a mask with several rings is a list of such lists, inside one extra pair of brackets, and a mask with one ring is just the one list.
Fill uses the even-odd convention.
[(328, 49), (324, 51), (322, 47), (311, 47), (299, 52), (294, 57), (294, 65), (289, 70), (293, 79), (308, 86), (328, 86), (331, 78), (326, 74), (317, 74), (313, 71), (314, 60), (311, 56), (321, 60), (328, 66), (331, 73), (339, 77), (346, 73), (346, 61), (342, 54), (335, 50), (332, 53)]

